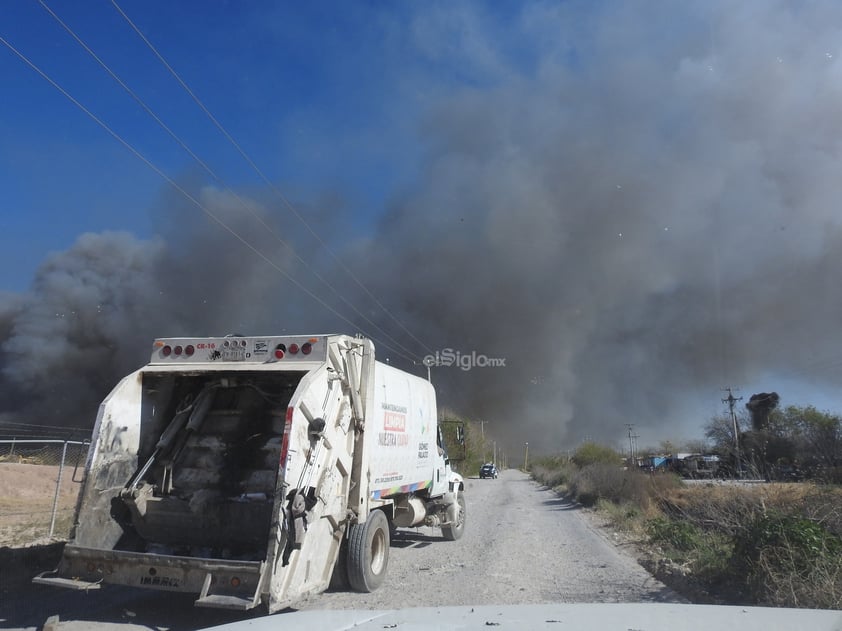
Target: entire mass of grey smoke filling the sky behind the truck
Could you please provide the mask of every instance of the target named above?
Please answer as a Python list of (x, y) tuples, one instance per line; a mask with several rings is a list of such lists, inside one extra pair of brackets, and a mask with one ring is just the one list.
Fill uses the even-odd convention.
[[(664, 3), (643, 15), (606, 3), (585, 15), (530, 3), (503, 41), (481, 18), (463, 6), (412, 20), (429, 62), (448, 55), (471, 81), (417, 78), (430, 88), (419, 177), (370, 236), (329, 232), (341, 206), (308, 214), (425, 347), (317, 245), (298, 249), (419, 359), (445, 348), (505, 358), (433, 368), (440, 403), (491, 421), (500, 441), (554, 451), (622, 440), (625, 423), (642, 444), (701, 436), (687, 403), (725, 385), (838, 386), (842, 7)], [(514, 38), (529, 54), (505, 55)], [(300, 277), (228, 196), (203, 195)], [(290, 230), (270, 204), (261, 214)], [(175, 226), (154, 241), (83, 235), (29, 293), (0, 297), (5, 409), (55, 422), (95, 410), (155, 336), (356, 332), (217, 226)]]

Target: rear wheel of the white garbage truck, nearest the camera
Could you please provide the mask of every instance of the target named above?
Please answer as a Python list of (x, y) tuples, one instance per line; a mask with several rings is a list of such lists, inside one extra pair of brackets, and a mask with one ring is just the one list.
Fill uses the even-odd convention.
[(352, 524), (348, 537), (348, 580), (358, 592), (373, 592), (386, 578), (389, 520), (373, 510), (364, 524)]

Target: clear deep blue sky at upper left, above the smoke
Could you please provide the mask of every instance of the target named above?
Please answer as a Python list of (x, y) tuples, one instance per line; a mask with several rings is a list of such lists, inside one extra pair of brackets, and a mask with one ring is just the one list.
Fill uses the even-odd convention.
[[(111, 3), (46, 4), (228, 186), (261, 184)], [(374, 216), (414, 168), (410, 121), (424, 95), (401, 80), (420, 66), (400, 42), (400, 5), (119, 5), (291, 197), (337, 190), (358, 216)], [(37, 2), (2, 3), (0, 25), (4, 39), (167, 174), (199, 169)], [(45, 254), (82, 232), (152, 235), (161, 178), (6, 47), (0, 73), (0, 289), (26, 289)]]

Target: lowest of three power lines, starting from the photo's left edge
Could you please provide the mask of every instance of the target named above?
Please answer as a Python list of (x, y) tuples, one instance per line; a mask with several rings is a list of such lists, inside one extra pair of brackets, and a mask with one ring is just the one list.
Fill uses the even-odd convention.
[[(166, 180), (170, 186), (175, 188), (179, 193), (181, 193), (187, 200), (193, 203), (197, 208), (199, 208), (202, 212), (204, 212), (208, 217), (210, 217), (214, 222), (219, 224), (224, 230), (229, 232), (232, 236), (234, 236), (240, 243), (245, 245), (248, 249), (254, 252), (258, 257), (263, 259), (266, 263), (268, 263), (272, 268), (278, 271), (280, 274), (285, 276), (291, 283), (293, 283), (296, 287), (298, 287), (301, 291), (305, 294), (310, 296), (313, 300), (315, 300), (318, 304), (325, 307), (328, 311), (333, 313), (343, 322), (350, 324), (352, 327), (360, 329), (360, 332), (364, 333), (371, 339), (381, 343), (375, 336), (371, 335), (370, 333), (366, 332), (361, 327), (358, 327), (354, 322), (343, 316), (339, 313), (336, 309), (331, 307), (327, 304), (324, 300), (319, 298), (316, 294), (310, 291), (307, 287), (299, 283), (295, 280), (292, 276), (290, 276), (286, 270), (279, 267), (277, 263), (271, 260), (268, 256), (266, 256), (263, 252), (261, 252), (257, 247), (252, 245), (247, 239), (241, 236), (236, 230), (231, 228), (228, 224), (226, 224), (222, 219), (217, 217), (209, 208), (207, 208), (204, 204), (202, 204), (199, 200), (193, 197), (190, 193), (188, 193), (182, 186), (180, 186), (175, 180), (173, 180), (169, 175), (164, 173), (160, 168), (158, 168), (151, 160), (149, 160), (146, 156), (141, 154), (137, 149), (135, 149), (127, 140), (125, 140), (122, 136), (120, 136), (117, 132), (115, 132), (111, 127), (109, 127), (104, 121), (96, 116), (93, 112), (91, 112), (88, 108), (86, 108), (82, 103), (80, 103), (77, 99), (75, 99), (67, 90), (61, 87), (58, 83), (56, 83), (49, 75), (47, 75), (43, 70), (41, 70), (35, 63), (33, 63), (28, 57), (26, 57), (23, 53), (21, 53), (17, 48), (15, 48), (11, 43), (9, 43), (5, 38), (0, 36), (0, 43), (6, 46), (9, 50), (11, 50), (17, 57), (23, 61), (27, 66), (32, 68), (35, 72), (37, 72), (45, 81), (47, 81), (50, 85), (52, 85), (56, 90), (61, 92), (71, 103), (73, 103), (76, 107), (82, 110), (85, 114), (88, 115), (95, 123), (97, 123), (100, 127), (102, 127), (106, 132), (108, 132), (115, 140), (117, 140), (121, 145), (123, 145), (126, 149), (128, 149), (131, 153), (133, 153), (138, 159), (140, 159), (146, 166), (152, 169), (155, 173), (157, 173), (160, 177)], [(409, 355), (405, 355), (404, 353), (398, 351), (393, 346), (382, 343), (382, 346), (391, 349), (395, 352), (395, 354), (403, 357), (404, 359), (414, 363), (415, 359)]]

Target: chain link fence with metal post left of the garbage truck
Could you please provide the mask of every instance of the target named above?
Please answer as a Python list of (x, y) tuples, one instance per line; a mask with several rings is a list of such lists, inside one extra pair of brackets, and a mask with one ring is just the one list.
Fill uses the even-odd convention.
[(0, 439), (0, 546), (67, 539), (88, 441)]

